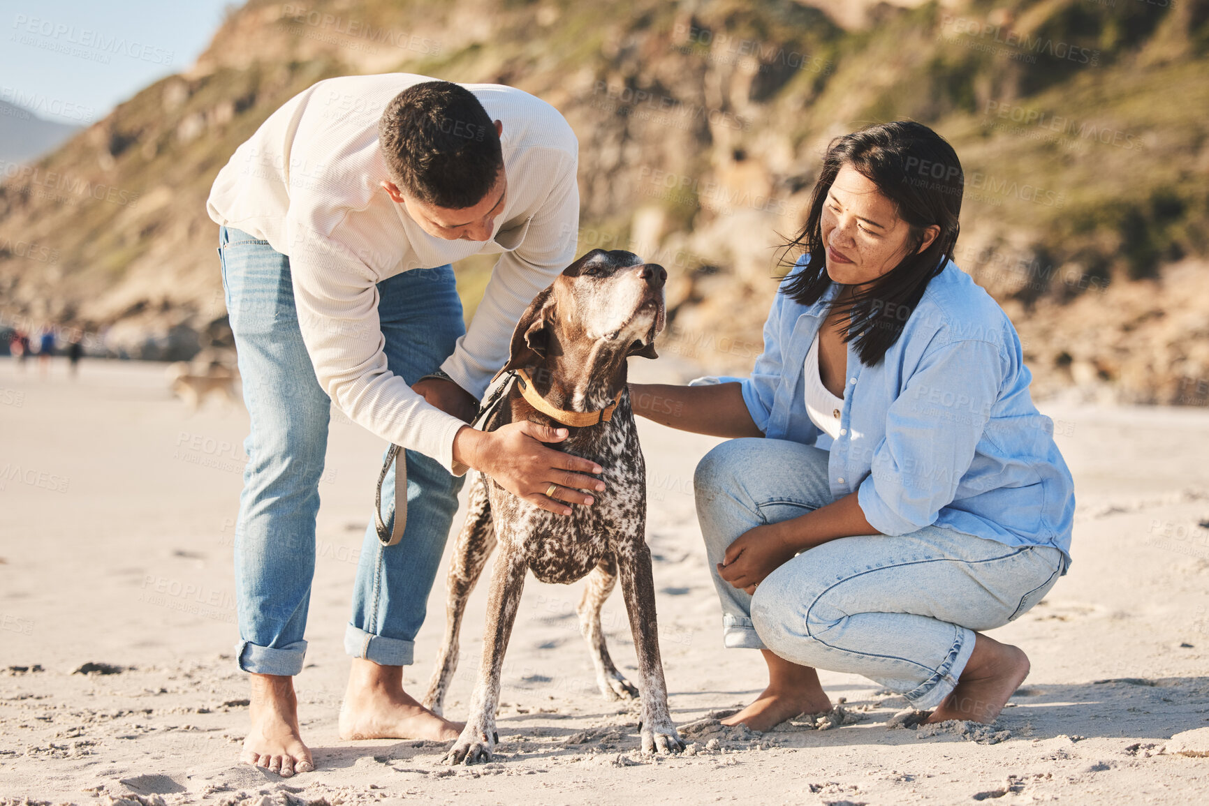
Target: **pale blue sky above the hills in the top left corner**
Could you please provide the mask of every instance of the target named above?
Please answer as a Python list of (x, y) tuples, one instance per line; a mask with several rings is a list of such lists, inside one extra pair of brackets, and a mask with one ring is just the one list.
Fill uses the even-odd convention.
[[(87, 124), (192, 64), (230, 0), (0, 0), (0, 100)], [(239, 4), (236, 4), (239, 5)]]

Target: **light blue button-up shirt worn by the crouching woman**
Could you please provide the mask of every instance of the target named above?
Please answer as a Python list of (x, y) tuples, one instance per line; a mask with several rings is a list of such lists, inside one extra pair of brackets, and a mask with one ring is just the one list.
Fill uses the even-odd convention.
[[(803, 376), (837, 290), (812, 306), (780, 292), (773, 301), (764, 352), (741, 381), (768, 437), (814, 445), (821, 433), (806, 414)], [(1053, 421), (1029, 396), (1031, 379), (1007, 314), (949, 261), (880, 363), (863, 366), (849, 342), (832, 494), (856, 492), (883, 534), (936, 524), (1012, 546), (1055, 546), (1069, 566), (1074, 481)]]

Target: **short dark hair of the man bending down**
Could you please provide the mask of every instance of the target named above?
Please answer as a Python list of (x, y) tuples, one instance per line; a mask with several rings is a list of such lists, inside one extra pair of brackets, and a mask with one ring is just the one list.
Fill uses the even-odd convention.
[(426, 81), (395, 95), (378, 121), (378, 143), (391, 179), (436, 207), (474, 207), (504, 167), (487, 110), (449, 81)]

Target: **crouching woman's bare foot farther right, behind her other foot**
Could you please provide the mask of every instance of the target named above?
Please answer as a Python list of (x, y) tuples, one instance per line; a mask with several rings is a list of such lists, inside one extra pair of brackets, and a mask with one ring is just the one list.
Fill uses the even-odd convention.
[(929, 723), (968, 719), (990, 724), (1029, 675), (1029, 656), (1019, 646), (980, 633), (958, 685), (927, 718)]

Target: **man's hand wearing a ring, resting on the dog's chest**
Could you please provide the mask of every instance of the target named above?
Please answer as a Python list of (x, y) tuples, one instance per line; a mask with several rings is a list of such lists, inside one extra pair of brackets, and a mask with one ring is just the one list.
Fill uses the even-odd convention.
[(453, 437), (453, 459), (487, 474), (501, 487), (539, 509), (571, 515), (567, 504), (591, 505), (595, 498), (583, 491), (602, 492), (604, 482), (588, 475), (601, 472), (601, 466), (591, 459), (543, 445), (565, 439), (567, 429), (527, 419), (494, 431), (463, 428)]

